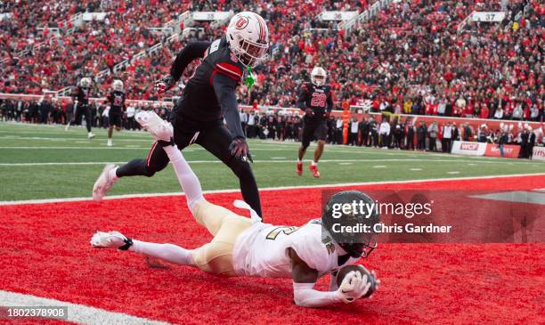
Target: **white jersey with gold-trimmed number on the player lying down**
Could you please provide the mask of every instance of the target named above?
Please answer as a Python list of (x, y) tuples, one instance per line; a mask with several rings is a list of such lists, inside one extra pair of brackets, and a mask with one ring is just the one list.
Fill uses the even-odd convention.
[[(242, 232), (232, 252), (232, 264), (240, 276), (291, 278), (288, 248), (293, 248), (319, 275), (337, 269), (338, 251), (329, 236), (322, 239), (321, 220), (301, 227), (255, 223)], [(348, 258), (352, 264), (357, 258)]]

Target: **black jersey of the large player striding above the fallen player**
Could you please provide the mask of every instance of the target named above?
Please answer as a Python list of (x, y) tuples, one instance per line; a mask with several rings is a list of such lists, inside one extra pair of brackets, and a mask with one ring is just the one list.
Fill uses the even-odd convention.
[(183, 89), (180, 105), (176, 105), (173, 113), (200, 122), (225, 118), (232, 134), (244, 137), (235, 94), (244, 76), (244, 65), (232, 54), (225, 37), (212, 42), (202, 56), (199, 67)]

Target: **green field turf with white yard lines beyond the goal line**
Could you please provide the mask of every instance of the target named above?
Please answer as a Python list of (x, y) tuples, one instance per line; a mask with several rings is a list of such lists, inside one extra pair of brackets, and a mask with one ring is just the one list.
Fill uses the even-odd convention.
[[(86, 139), (85, 129), (0, 123), (0, 201), (90, 197), (103, 164), (145, 158), (152, 139), (143, 132), (114, 134), (106, 146), (106, 131)], [(321, 178), (295, 173), (295, 142), (250, 141), (254, 174), (260, 188), (276, 186), (360, 183), (453, 178), (477, 175), (545, 173), (545, 163), (522, 159), (460, 157), (404, 150), (326, 146)], [(311, 159), (313, 145), (305, 158)], [(238, 189), (237, 178), (198, 145), (183, 150), (204, 190)], [(154, 177), (127, 177), (110, 194), (180, 191), (172, 167)]]

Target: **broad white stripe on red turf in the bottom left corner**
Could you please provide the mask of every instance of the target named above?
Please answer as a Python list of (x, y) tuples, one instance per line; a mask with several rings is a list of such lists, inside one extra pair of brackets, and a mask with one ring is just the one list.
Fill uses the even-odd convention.
[(68, 319), (79, 324), (119, 324), (119, 325), (168, 325), (165, 321), (153, 321), (146, 318), (128, 315), (126, 313), (114, 313), (104, 309), (87, 305), (77, 305), (64, 301), (24, 295), (16, 292), (0, 290), (0, 302), (3, 306), (59, 306), (68, 307)]

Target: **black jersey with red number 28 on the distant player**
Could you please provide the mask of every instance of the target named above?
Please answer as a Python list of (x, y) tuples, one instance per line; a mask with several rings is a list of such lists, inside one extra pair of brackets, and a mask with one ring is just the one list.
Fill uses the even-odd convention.
[(329, 85), (313, 85), (304, 83), (297, 98), (297, 106), (301, 110), (313, 110), (313, 118), (305, 116), (305, 119), (324, 119), (325, 113), (333, 109), (333, 97)]

